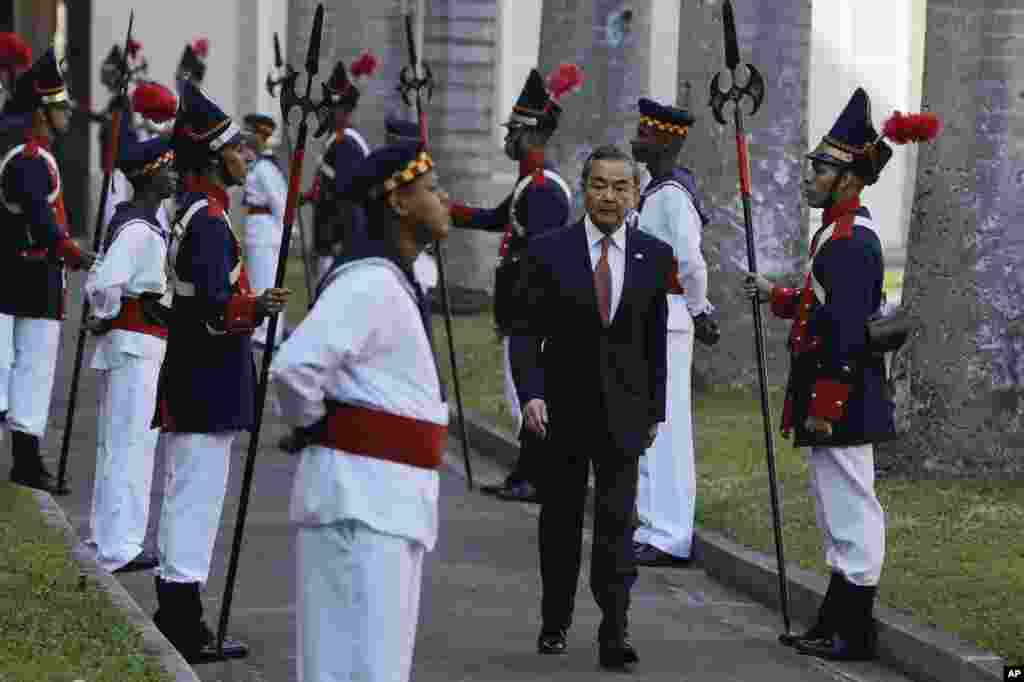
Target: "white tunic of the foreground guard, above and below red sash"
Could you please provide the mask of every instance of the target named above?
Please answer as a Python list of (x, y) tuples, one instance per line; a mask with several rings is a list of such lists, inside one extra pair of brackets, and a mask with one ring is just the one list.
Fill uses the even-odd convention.
[[(446, 425), (440, 382), (415, 294), (384, 259), (342, 266), (274, 356), (283, 416), (309, 426), (325, 398)], [(303, 526), (357, 519), (427, 550), (437, 539), (436, 471), (313, 445), (301, 455), (291, 519)]]

